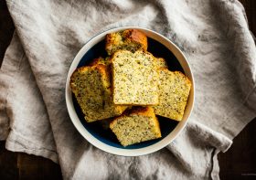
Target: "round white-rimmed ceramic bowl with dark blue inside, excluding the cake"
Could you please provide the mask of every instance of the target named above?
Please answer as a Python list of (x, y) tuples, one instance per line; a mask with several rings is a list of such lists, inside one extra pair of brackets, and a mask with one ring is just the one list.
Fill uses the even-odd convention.
[[(188, 97), (185, 114), (181, 122), (158, 117), (162, 138), (123, 147), (110, 130), (102, 129), (97, 122), (88, 123), (84, 120), (83, 114), (80, 111), (80, 106), (78, 105), (74, 95), (69, 88), (69, 79), (75, 69), (87, 65), (93, 58), (107, 56), (104, 49), (104, 38), (107, 34), (131, 28), (144, 32), (144, 34), (148, 37), (148, 51), (151, 52), (155, 57), (165, 58), (169, 70), (183, 71), (187, 75), (188, 79), (192, 81), (192, 87)], [(90, 142), (95, 147), (110, 154), (123, 156), (151, 154), (164, 148), (167, 144), (174, 141), (176, 136), (185, 128), (194, 104), (194, 80), (191, 69), (189, 68), (189, 64), (187, 62), (187, 58), (184, 56), (182, 51), (177, 48), (176, 45), (169, 39), (153, 30), (138, 26), (116, 27), (104, 31), (95, 37), (92, 37), (91, 40), (89, 40), (80, 49), (69, 69), (66, 83), (66, 102), (69, 111), (69, 117), (75, 128), (88, 142)]]

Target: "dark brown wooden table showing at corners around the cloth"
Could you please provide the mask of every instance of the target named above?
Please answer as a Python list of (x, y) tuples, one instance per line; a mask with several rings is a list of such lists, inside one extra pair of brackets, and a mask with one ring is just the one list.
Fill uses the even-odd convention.
[[(256, 35), (256, 1), (240, 0), (245, 6), (249, 26)], [(0, 1), (0, 62), (10, 43), (14, 25), (5, 1)], [(255, 59), (256, 60), (256, 59)], [(221, 179), (256, 179), (256, 119), (234, 139), (225, 154), (219, 154)], [(0, 179), (61, 179), (58, 164), (35, 155), (13, 153), (0, 142)]]

